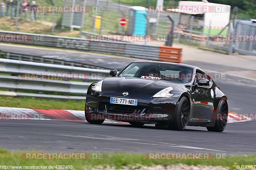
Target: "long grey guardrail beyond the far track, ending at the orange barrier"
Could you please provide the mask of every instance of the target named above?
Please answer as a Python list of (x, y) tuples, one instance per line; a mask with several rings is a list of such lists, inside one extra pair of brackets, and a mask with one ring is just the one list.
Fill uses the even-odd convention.
[(131, 42), (89, 41), (83, 38), (61, 37), (45, 34), (0, 31), (3, 36), (24, 36), (24, 40), (11, 43), (79, 49), (96, 53), (122, 55), (150, 60), (159, 60), (159, 47)]

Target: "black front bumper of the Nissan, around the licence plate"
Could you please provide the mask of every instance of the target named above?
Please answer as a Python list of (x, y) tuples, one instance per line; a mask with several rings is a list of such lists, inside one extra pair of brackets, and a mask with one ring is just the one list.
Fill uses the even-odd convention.
[[(110, 90), (95, 92), (88, 89), (85, 103), (87, 118), (170, 124), (180, 98), (178, 94), (170, 98), (152, 98), (152, 95), (145, 93), (129, 92), (127, 96), (122, 93)], [(111, 104), (110, 97), (137, 99), (138, 105)]]

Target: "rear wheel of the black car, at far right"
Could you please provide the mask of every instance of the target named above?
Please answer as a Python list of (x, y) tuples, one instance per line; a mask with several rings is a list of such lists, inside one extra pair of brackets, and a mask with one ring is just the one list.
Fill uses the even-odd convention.
[(228, 104), (225, 100), (222, 100), (219, 104), (220, 107), (217, 109), (217, 119), (214, 127), (206, 127), (211, 132), (223, 132), (228, 121)]

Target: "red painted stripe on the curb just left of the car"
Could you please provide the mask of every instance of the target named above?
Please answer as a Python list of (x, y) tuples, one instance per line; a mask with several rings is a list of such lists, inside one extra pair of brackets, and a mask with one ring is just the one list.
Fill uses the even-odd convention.
[(65, 121), (84, 121), (83, 119), (69, 113), (66, 110), (44, 110), (33, 109), (36, 112), (43, 114), (45, 117), (51, 120), (65, 120)]

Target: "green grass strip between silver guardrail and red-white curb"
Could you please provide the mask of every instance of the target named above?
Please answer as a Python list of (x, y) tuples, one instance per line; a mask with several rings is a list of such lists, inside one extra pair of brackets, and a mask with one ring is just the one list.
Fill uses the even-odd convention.
[(0, 96), (0, 107), (20, 107), (34, 109), (84, 110), (84, 100), (45, 99), (34, 97)]

